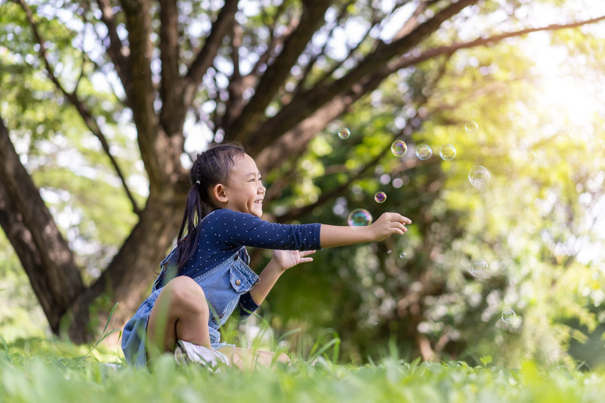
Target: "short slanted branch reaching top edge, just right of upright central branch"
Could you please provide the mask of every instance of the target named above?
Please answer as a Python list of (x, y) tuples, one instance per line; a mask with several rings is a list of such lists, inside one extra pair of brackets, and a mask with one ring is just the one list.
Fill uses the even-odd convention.
[(212, 23), (212, 31), (208, 35), (208, 38), (206, 38), (204, 47), (201, 48), (194, 62), (191, 63), (189, 71), (185, 76), (187, 81), (184, 93), (185, 97), (183, 98), (185, 106), (192, 104), (201, 79), (206, 74), (206, 70), (212, 66), (223, 37), (234, 22), (237, 3), (238, 0), (225, 0), (225, 4), (221, 8), (220, 13), (218, 13), (216, 21)]

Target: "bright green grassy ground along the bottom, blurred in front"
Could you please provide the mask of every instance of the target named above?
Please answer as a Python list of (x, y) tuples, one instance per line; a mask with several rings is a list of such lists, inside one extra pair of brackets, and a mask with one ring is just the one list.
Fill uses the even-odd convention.
[[(0, 341), (0, 346), (2, 346)], [(313, 365), (233, 370), (212, 374), (179, 367), (172, 355), (152, 373), (99, 363), (120, 363), (115, 353), (51, 340), (0, 347), (0, 401), (4, 402), (602, 402), (602, 373), (563, 366), (538, 369), (469, 367), (462, 361), (405, 363), (392, 354), (366, 366), (336, 365), (319, 357)], [(485, 362), (489, 359), (484, 359)]]

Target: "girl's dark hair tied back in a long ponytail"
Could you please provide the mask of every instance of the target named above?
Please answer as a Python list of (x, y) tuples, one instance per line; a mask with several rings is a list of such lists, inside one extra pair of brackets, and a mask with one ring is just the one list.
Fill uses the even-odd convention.
[[(195, 254), (195, 247), (201, 228), (197, 228), (201, 220), (217, 207), (212, 205), (210, 187), (218, 183), (226, 184), (229, 181), (231, 168), (235, 164), (235, 157), (246, 153), (244, 147), (236, 142), (212, 143), (199, 153), (191, 169), (189, 180), (191, 189), (187, 195), (183, 222), (177, 237), (177, 273), (185, 267)], [(200, 181), (198, 184), (197, 181)], [(185, 234), (185, 237), (183, 235)]]

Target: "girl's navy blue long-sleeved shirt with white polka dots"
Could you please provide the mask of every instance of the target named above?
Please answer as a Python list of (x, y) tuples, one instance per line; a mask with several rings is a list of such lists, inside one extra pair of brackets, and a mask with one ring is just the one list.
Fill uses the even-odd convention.
[[(178, 275), (191, 278), (200, 276), (229, 259), (241, 250), (242, 246), (279, 250), (321, 250), (320, 230), (321, 224), (275, 224), (252, 214), (220, 208), (202, 220), (197, 251)], [(165, 267), (175, 267), (176, 260), (174, 253), (165, 263)], [(165, 285), (164, 280), (160, 280), (160, 286)], [(246, 301), (240, 306), (243, 305), (248, 311), (258, 308), (249, 292), (241, 295), (240, 301)]]

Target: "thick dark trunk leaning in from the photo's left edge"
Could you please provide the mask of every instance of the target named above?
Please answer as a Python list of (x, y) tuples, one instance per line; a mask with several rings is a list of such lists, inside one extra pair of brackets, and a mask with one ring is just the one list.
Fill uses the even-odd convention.
[(71, 302), (83, 291), (73, 254), (19, 161), (0, 117), (0, 225), (30, 279), (55, 334)]

